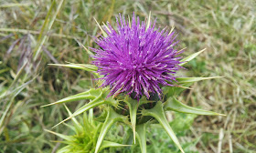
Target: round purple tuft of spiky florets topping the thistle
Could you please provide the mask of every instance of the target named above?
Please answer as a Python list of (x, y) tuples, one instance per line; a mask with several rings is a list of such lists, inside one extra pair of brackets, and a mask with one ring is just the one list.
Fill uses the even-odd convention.
[(175, 33), (155, 30), (155, 23), (147, 26), (134, 14), (132, 23), (121, 15), (116, 22), (117, 30), (107, 23), (107, 36), (96, 39), (100, 48), (92, 48), (92, 63), (103, 75), (101, 87), (110, 86), (110, 95), (135, 93), (137, 98), (149, 98), (157, 93), (161, 97), (159, 86), (173, 86), (170, 83), (176, 81), (174, 75), (182, 67), (178, 66), (181, 57), (177, 56)]

